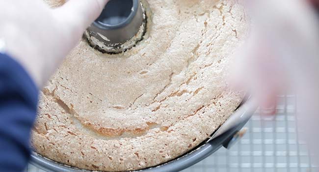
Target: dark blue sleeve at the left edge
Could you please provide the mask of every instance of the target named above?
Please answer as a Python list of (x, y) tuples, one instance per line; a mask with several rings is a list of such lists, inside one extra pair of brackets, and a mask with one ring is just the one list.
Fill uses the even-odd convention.
[(30, 156), (38, 88), (24, 68), (0, 54), (0, 172), (21, 172)]

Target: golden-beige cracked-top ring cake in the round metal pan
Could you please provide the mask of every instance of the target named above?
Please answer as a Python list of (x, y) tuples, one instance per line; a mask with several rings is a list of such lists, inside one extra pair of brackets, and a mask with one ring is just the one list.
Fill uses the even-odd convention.
[(205, 141), (239, 106), (242, 93), (228, 89), (226, 78), (247, 32), (243, 6), (142, 3), (149, 9), (142, 41), (110, 55), (83, 39), (41, 92), (37, 153), (93, 171), (153, 167)]

